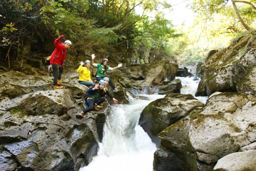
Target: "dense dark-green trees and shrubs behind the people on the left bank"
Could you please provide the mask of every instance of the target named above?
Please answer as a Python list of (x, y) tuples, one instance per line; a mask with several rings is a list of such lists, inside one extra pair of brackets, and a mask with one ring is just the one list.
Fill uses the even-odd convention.
[[(137, 6), (142, 14), (135, 13)], [(148, 51), (157, 57), (170, 56), (168, 41), (181, 34), (160, 8), (170, 8), (170, 4), (159, 0), (8, 0), (0, 4), (0, 46), (13, 44), (12, 50), (20, 56), (24, 42), (39, 48), (64, 34), (78, 53), (128, 47), (138, 54)], [(153, 20), (145, 15), (150, 11), (156, 11)]]

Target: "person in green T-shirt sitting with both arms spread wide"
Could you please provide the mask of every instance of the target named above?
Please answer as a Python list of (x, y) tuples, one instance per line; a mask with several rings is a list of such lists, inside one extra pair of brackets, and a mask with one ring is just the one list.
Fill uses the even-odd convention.
[[(120, 68), (120, 67), (123, 66), (122, 64), (118, 64), (117, 67), (111, 68), (107, 65), (108, 64), (108, 59), (106, 59), (106, 58), (104, 58), (100, 64), (94, 64), (94, 58), (95, 58), (95, 55), (92, 54), (92, 66), (95, 66), (95, 67), (98, 68), (98, 71), (96, 73), (96, 80), (97, 81), (103, 80), (103, 78), (106, 77), (106, 71), (107, 70), (112, 71), (112, 70), (115, 70), (115, 69)], [(118, 91), (118, 89), (115, 87), (115, 85), (114, 85), (114, 83), (112, 82), (111, 79), (109, 79), (109, 83), (110, 83), (111, 87), (113, 88), (113, 91)]]

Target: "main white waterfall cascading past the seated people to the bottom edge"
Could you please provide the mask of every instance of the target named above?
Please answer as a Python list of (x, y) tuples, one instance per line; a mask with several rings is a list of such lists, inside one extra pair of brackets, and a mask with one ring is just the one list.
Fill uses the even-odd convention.
[(80, 171), (152, 171), (156, 145), (138, 125), (141, 111), (164, 95), (143, 95), (129, 105), (114, 105), (106, 116), (102, 143), (97, 156)]

